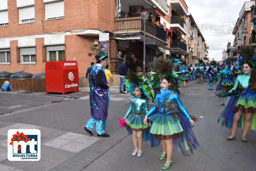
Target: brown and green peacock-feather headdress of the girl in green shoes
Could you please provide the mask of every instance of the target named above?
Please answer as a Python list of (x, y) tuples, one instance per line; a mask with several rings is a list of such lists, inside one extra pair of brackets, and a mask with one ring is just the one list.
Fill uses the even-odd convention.
[(174, 63), (170, 60), (165, 60), (164, 58), (158, 58), (153, 66), (154, 72), (153, 75), (153, 87), (160, 88), (160, 81), (163, 78), (166, 78), (168, 82), (171, 82), (176, 89), (178, 88), (179, 78), (174, 74), (175, 66)]

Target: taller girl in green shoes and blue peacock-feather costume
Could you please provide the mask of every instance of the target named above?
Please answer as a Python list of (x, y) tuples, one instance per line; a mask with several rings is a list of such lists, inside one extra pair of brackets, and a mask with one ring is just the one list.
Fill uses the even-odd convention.
[(183, 154), (186, 154), (186, 150), (197, 148), (199, 144), (192, 131), (191, 125), (194, 125), (194, 121), (175, 92), (177, 78), (172, 73), (172, 62), (159, 59), (154, 67), (157, 73), (154, 74), (152, 83), (155, 87), (161, 87), (161, 90), (154, 99), (153, 107), (146, 114), (144, 124), (149, 119), (152, 122), (150, 133), (154, 139), (161, 140), (163, 152), (159, 159), (164, 160), (167, 157), (162, 167), (166, 170), (172, 165), (173, 144)]

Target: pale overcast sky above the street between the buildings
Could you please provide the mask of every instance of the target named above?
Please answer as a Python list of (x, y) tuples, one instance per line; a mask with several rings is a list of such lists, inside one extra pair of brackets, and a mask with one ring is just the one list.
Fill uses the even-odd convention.
[[(189, 12), (201, 27), (201, 32), (209, 46), (210, 59), (221, 59), (222, 51), (226, 49), (228, 41), (234, 41), (233, 27), (246, 1), (250, 0), (185, 0)], [(219, 25), (223, 23), (224, 26), (220, 27)], [(210, 31), (207, 24), (214, 24), (218, 31), (214, 29)]]

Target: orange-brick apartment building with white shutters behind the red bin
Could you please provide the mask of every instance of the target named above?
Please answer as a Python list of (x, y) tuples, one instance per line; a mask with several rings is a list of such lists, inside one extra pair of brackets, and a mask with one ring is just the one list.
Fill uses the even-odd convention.
[[(78, 61), (80, 85), (99, 34), (110, 33), (110, 69), (117, 71), (116, 55), (139, 59), (143, 66), (143, 22), (146, 10), (147, 65), (157, 52), (170, 50), (171, 6), (169, 0), (2, 0), (0, 1), (0, 70), (44, 72), (46, 61)], [(116, 5), (117, 4), (117, 5)], [(118, 14), (119, 5), (121, 12)], [(117, 16), (117, 14), (119, 16)], [(170, 53), (170, 52), (169, 52)], [(128, 60), (129, 65), (129, 60)]]

